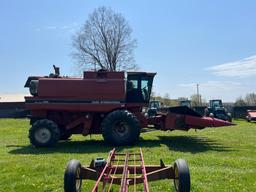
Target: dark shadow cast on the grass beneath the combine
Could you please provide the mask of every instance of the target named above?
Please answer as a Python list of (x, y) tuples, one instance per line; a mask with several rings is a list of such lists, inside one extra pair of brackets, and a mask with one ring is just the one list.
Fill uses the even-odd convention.
[[(135, 146), (117, 147), (118, 150), (129, 149), (132, 147), (161, 147), (166, 145), (171, 151), (200, 153), (204, 151), (233, 151), (215, 140), (206, 137), (196, 136), (159, 136), (159, 139), (140, 141)], [(113, 146), (106, 144), (103, 140), (86, 140), (86, 141), (62, 141), (53, 148), (35, 148), (32, 145), (27, 146), (7, 146), (15, 147), (9, 151), (10, 154), (50, 154), (50, 153), (107, 153)]]

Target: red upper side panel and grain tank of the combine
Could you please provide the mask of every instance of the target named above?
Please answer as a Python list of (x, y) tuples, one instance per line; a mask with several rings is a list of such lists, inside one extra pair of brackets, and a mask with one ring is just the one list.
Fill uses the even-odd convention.
[(123, 72), (84, 72), (83, 78), (40, 78), (38, 96), (48, 99), (125, 101)]

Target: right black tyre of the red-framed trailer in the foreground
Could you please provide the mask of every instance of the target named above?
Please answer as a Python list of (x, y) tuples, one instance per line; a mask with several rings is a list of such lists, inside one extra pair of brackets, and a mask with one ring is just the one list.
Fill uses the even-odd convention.
[(174, 187), (177, 192), (190, 191), (190, 174), (188, 164), (183, 159), (174, 162)]

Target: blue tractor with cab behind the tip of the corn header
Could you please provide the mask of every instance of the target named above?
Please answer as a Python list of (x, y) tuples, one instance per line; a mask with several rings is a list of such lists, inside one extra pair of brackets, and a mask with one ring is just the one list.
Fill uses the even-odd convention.
[(210, 100), (209, 107), (205, 109), (205, 115), (232, 122), (232, 116), (223, 106), (221, 99)]

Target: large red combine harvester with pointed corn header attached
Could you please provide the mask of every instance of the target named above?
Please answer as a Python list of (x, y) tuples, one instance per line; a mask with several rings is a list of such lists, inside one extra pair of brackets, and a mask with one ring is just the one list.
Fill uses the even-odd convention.
[(86, 71), (83, 78), (29, 77), (25, 97), (31, 111), (30, 142), (37, 147), (55, 145), (72, 134), (102, 134), (113, 145), (131, 145), (139, 140), (142, 128), (189, 130), (220, 127), (231, 123), (202, 117), (188, 107), (162, 108), (145, 116), (156, 73)]

